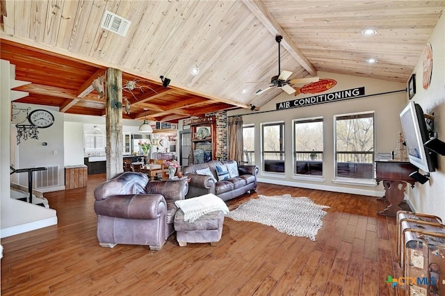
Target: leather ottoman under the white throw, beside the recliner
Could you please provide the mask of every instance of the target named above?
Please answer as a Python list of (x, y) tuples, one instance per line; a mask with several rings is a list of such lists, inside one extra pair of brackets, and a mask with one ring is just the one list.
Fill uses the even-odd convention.
[(223, 233), (224, 213), (207, 213), (191, 223), (184, 221), (184, 212), (179, 208), (173, 224), (180, 247), (186, 246), (187, 242), (210, 242), (211, 245), (216, 245)]

